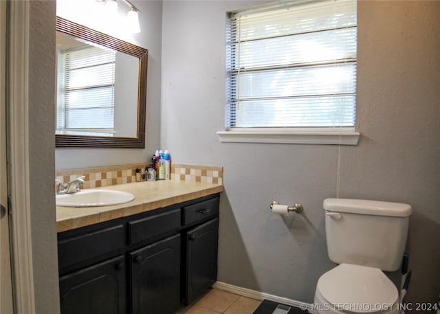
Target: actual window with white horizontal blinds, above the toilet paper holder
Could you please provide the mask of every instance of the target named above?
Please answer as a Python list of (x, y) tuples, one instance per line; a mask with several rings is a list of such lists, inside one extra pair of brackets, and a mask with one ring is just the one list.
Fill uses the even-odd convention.
[(229, 20), (229, 133), (358, 135), (356, 1), (283, 2)]

